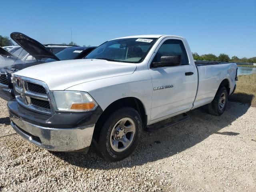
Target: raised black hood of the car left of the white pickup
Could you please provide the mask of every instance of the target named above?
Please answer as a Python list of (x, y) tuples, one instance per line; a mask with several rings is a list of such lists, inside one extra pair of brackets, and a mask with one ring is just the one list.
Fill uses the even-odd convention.
[(14, 40), (18, 45), (24, 48), (24, 50), (26, 50), (37, 60), (41, 60), (42, 58), (51, 58), (57, 61), (60, 60), (52, 52), (47, 50), (45, 46), (40, 44), (40, 42), (30, 38), (29, 36), (26, 36), (19, 32), (13, 32), (10, 36), (12, 40)]

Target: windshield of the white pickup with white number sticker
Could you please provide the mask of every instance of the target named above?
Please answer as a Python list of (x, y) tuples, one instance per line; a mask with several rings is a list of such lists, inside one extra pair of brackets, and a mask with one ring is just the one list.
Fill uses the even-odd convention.
[(139, 63), (144, 60), (156, 38), (124, 38), (107, 41), (90, 52), (88, 59)]

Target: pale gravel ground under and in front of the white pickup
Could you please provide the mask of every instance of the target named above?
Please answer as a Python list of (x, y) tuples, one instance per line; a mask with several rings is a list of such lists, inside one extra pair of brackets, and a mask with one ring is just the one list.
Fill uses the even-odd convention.
[(244, 104), (229, 102), (220, 117), (193, 110), (182, 124), (145, 133), (117, 163), (6, 136), (14, 130), (4, 100), (0, 112), (0, 191), (256, 192), (256, 108)]

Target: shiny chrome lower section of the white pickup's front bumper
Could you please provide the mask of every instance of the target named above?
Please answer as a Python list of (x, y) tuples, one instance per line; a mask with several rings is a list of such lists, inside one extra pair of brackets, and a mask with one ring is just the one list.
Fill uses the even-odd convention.
[(76, 151), (90, 146), (95, 124), (78, 128), (41, 127), (10, 115), (11, 125), (24, 139), (50, 151)]

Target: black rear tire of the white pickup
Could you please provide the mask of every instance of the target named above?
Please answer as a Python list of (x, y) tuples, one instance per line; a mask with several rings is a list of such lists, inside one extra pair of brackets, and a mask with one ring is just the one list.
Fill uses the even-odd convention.
[[(219, 101), (221, 100), (221, 98), (223, 98), (223, 96), (225, 96), (224, 105), (223, 105), (223, 102), (221, 102), (222, 104), (219, 103)], [(226, 87), (221, 87), (217, 91), (212, 102), (210, 104), (208, 104), (208, 112), (215, 116), (222, 115), (226, 109), (227, 102), (228, 102), (228, 91), (227, 91)]]

